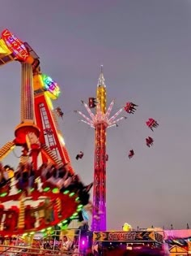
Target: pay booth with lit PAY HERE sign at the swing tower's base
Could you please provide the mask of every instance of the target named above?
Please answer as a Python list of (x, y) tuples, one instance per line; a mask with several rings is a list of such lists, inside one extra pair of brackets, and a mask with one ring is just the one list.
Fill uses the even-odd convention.
[(149, 252), (163, 250), (163, 233), (155, 231), (93, 232), (93, 247), (97, 255), (111, 251), (139, 250)]

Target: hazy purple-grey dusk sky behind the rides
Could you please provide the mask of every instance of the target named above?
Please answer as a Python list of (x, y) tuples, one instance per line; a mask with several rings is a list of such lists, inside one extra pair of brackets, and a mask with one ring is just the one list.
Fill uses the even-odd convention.
[[(93, 180), (94, 130), (74, 111), (86, 113), (81, 100), (96, 96), (101, 64), (108, 104), (116, 99), (112, 114), (125, 102), (138, 104), (107, 133), (108, 229), (191, 224), (191, 1), (2, 0), (4, 28), (28, 41), (42, 72), (60, 85), (54, 106), (65, 113), (59, 124), (85, 184)], [(0, 145), (14, 139), (20, 122), (20, 71), (17, 62), (0, 69)], [(145, 125), (150, 117), (159, 122), (155, 132)], [(77, 161), (79, 150), (84, 157)], [(16, 167), (18, 157), (15, 150), (3, 163)]]

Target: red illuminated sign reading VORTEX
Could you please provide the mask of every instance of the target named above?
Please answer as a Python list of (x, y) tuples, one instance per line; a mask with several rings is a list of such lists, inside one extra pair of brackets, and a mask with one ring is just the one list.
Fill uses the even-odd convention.
[(15, 53), (18, 59), (25, 61), (28, 58), (28, 50), (24, 46), (23, 41), (20, 41), (8, 29), (2, 31), (2, 40), (5, 41), (6, 46)]

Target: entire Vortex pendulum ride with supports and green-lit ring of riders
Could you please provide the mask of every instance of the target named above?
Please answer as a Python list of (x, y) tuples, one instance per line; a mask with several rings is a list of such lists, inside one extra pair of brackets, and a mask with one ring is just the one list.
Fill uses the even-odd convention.
[[(79, 188), (82, 182), (71, 167), (53, 109), (52, 101), (60, 89), (40, 71), (40, 58), (32, 47), (5, 29), (0, 39), (0, 66), (12, 61), (21, 64), (20, 121), (15, 138), (0, 149), (0, 161), (15, 146), (22, 154), (18, 170), (0, 165), (0, 176), (4, 177), (0, 183), (0, 236), (50, 232), (55, 225), (62, 228), (76, 219), (88, 201), (84, 200), (88, 191), (83, 185), (76, 189), (75, 184)], [(58, 172), (59, 185), (51, 182)], [(72, 186), (66, 185), (66, 174), (70, 180), (75, 176)]]

